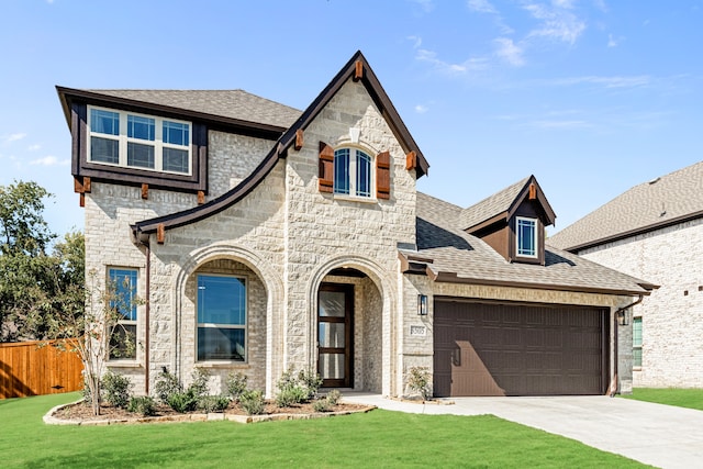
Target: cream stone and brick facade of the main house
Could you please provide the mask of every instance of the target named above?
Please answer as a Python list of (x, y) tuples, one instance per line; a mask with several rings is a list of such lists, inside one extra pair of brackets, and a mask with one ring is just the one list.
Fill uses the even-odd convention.
[[(611, 313), (632, 302), (617, 294), (443, 283), (426, 275), (402, 273), (399, 248), (416, 247), (419, 172), (409, 164), (406, 137), (399, 136), (398, 122), (389, 122), (388, 108), (382, 110), (379, 101), (361, 80), (341, 82), (305, 124), (302, 144), (288, 148), (260, 183), (214, 214), (169, 227), (163, 241), (149, 232), (148, 243), (137, 242), (131, 225), (193, 209), (196, 194), (149, 190), (143, 199), (136, 187), (92, 185), (85, 194), (87, 271), (97, 272), (98, 287), (104, 288), (108, 268), (138, 269), (137, 291), (148, 293), (148, 319), (145, 305), (137, 313), (136, 358), (109, 362), (132, 379), (137, 392), (153, 389), (164, 368), (188, 384), (193, 370), (202, 367), (211, 373), (212, 392), (221, 392), (227, 375), (237, 371), (253, 388), (274, 395), (286, 370), (317, 369), (323, 283), (354, 289), (353, 388), (393, 397), (409, 393), (411, 368), (432, 371), (435, 297), (593, 305)], [(321, 143), (358, 148), (372, 158), (388, 152), (390, 198), (321, 191)], [(236, 188), (274, 145), (234, 131), (209, 130), (207, 200)], [(198, 360), (200, 273), (246, 279), (245, 361)], [(426, 315), (417, 314), (419, 294), (428, 298)], [(617, 366), (621, 390), (627, 392), (631, 330), (617, 336), (617, 354), (614, 343), (612, 331), (611, 369)]]

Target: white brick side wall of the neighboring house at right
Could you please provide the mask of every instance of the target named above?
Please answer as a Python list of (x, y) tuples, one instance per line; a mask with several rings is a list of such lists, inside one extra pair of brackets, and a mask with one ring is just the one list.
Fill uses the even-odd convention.
[(703, 219), (579, 255), (660, 286), (634, 308), (643, 319), (643, 366), (634, 371), (635, 386), (703, 387)]

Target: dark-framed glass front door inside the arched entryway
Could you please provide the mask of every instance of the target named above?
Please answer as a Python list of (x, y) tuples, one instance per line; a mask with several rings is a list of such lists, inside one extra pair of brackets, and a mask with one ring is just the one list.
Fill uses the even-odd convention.
[(317, 293), (317, 372), (326, 388), (353, 388), (354, 286), (323, 283)]

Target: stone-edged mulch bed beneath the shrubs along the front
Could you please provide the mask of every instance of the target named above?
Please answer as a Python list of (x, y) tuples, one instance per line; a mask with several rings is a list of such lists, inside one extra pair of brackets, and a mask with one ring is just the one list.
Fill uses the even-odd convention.
[(124, 423), (149, 423), (149, 422), (187, 422), (187, 421), (212, 421), (231, 420), (241, 423), (264, 422), (274, 420), (293, 418), (316, 418), (322, 416), (344, 415), (357, 412), (368, 412), (375, 409), (369, 405), (339, 402), (331, 407), (330, 412), (315, 412), (312, 403), (298, 404), (290, 407), (278, 407), (275, 403), (266, 403), (264, 414), (247, 415), (236, 403), (231, 403), (224, 412), (205, 414), (202, 411), (179, 413), (168, 405), (157, 404), (156, 415), (145, 417), (142, 414), (131, 413), (124, 409), (113, 407), (102, 404), (100, 415), (92, 414), (89, 403), (80, 401), (74, 404), (62, 405), (53, 409), (44, 418), (52, 424), (75, 424), (75, 425), (113, 425)]

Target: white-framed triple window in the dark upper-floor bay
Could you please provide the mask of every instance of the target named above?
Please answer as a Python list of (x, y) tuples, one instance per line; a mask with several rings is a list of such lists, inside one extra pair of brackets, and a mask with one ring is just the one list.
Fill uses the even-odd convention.
[(88, 161), (159, 172), (192, 172), (190, 122), (88, 107)]

